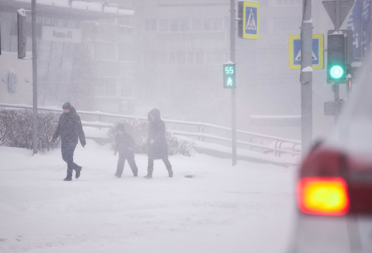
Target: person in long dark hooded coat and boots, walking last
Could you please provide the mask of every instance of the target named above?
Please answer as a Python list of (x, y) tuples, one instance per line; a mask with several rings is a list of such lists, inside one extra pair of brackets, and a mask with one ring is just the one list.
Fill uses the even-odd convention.
[(145, 178), (153, 178), (154, 160), (163, 160), (169, 177), (173, 177), (172, 165), (168, 160), (168, 144), (165, 137), (165, 124), (160, 118), (159, 109), (152, 109), (147, 118), (150, 121), (148, 131), (148, 165)]

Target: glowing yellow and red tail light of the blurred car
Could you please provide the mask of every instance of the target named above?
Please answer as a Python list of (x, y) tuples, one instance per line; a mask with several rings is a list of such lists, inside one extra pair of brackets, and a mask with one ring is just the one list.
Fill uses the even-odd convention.
[(347, 184), (341, 177), (301, 178), (297, 183), (297, 203), (307, 214), (346, 214), (349, 210)]

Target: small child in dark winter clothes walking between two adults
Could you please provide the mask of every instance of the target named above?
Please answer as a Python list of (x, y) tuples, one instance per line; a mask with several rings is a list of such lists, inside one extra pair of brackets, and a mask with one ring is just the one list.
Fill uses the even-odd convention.
[(125, 132), (125, 126), (123, 124), (118, 124), (116, 126), (116, 131), (118, 134), (115, 137), (115, 151), (119, 151), (118, 166), (116, 167), (115, 177), (121, 177), (124, 170), (125, 160), (128, 160), (129, 167), (133, 172), (133, 176), (137, 177), (138, 168), (136, 162), (134, 161), (134, 145), (135, 141), (133, 137)]

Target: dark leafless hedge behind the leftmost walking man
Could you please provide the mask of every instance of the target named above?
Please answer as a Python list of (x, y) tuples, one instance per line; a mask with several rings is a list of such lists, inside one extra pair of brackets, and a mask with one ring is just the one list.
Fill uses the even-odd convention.
[[(38, 149), (45, 152), (60, 147), (60, 142), (49, 142), (57, 129), (59, 114), (55, 112), (38, 112)], [(2, 129), (5, 129), (3, 131)], [(9, 132), (10, 131), (10, 132)], [(0, 112), (0, 142), (17, 148), (33, 148), (32, 112), (1, 111)]]

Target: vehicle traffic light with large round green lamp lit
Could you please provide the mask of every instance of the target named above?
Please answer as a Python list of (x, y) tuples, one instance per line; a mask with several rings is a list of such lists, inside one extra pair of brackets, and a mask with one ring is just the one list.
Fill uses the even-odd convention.
[(344, 83), (347, 75), (345, 35), (328, 34), (327, 48), (327, 83)]

